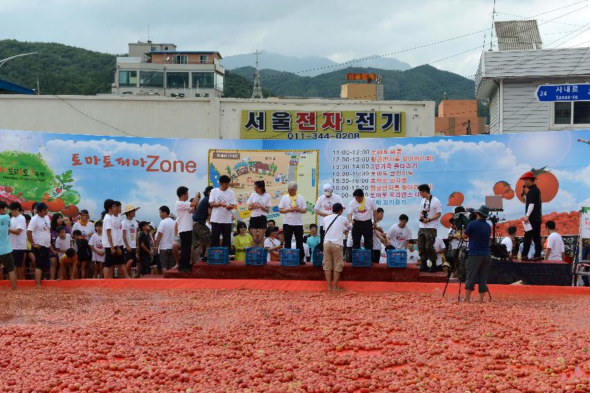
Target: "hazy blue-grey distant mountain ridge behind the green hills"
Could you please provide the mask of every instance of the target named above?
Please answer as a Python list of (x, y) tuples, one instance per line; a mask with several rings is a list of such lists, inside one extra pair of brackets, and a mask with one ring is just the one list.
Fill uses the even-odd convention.
[[(242, 55), (226, 56), (221, 61), (225, 69), (236, 69), (241, 67), (252, 67), (256, 62), (256, 56), (252, 53)], [(401, 70), (412, 68), (410, 64), (401, 62), (394, 58), (381, 58), (378, 55), (367, 56), (366, 58), (353, 59), (339, 64), (329, 58), (319, 56), (306, 56), (297, 58), (295, 56), (281, 55), (269, 51), (261, 51), (259, 55), (260, 68), (275, 69), (297, 73), (300, 76), (318, 76), (321, 73), (347, 69), (349, 67), (374, 67), (379, 69)]]

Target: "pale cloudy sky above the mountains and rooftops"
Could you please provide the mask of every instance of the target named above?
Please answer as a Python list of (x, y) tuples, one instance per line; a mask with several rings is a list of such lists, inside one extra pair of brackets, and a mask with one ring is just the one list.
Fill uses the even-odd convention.
[[(127, 53), (128, 42), (147, 40), (149, 25), (153, 42), (185, 51), (228, 56), (263, 49), (336, 62), (390, 55), (466, 77), (476, 73), (484, 43), (489, 49), (492, 15), (535, 17), (549, 48), (590, 46), (590, 0), (496, 0), (496, 13), (493, 0), (0, 0), (0, 9), (0, 39)], [(433, 44), (461, 35), (467, 36)]]

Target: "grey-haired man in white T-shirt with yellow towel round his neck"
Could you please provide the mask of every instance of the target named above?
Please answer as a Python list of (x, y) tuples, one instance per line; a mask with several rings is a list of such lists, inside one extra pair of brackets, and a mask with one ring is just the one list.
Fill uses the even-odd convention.
[(287, 195), (283, 195), (279, 202), (279, 213), (284, 214), (283, 233), (285, 245), (291, 244), (295, 235), (295, 247), (299, 249), (299, 263), (305, 265), (305, 250), (303, 248), (303, 213), (307, 211), (305, 198), (297, 194), (297, 183), (287, 184)]

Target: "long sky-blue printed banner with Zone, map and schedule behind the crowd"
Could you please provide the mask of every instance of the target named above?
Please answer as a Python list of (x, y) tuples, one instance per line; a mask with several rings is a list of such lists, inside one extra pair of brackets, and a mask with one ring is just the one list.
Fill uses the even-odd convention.
[[(545, 219), (562, 234), (578, 234), (580, 209), (590, 206), (590, 130), (464, 137), (226, 140), (150, 139), (0, 130), (0, 199), (35, 201), (52, 212), (76, 216), (88, 209), (100, 217), (106, 198), (141, 207), (139, 219), (159, 222), (158, 209), (172, 207), (177, 186), (193, 194), (220, 175), (232, 178), (238, 208), (256, 180), (272, 198), (270, 218), (281, 225), (278, 202), (295, 181), (316, 221), (313, 204), (330, 182), (346, 202), (361, 188), (385, 209), (382, 227), (401, 213), (417, 234), (419, 184), (431, 184), (442, 201), (445, 226), (455, 206), (479, 207), (486, 195), (502, 195), (506, 218), (521, 229), (524, 213), (519, 177), (537, 173)], [(513, 221), (511, 221), (513, 220)], [(442, 229), (442, 227), (441, 227)]]

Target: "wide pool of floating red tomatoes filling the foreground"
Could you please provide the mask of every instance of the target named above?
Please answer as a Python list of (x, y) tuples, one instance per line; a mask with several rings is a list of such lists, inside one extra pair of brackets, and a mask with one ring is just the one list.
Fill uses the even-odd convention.
[(590, 297), (0, 291), (0, 392), (590, 392)]

